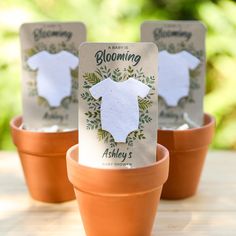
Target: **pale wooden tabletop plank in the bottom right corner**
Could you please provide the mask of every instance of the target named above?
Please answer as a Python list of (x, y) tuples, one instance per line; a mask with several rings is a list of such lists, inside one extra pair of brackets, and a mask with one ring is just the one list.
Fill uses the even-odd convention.
[(160, 212), (153, 230), (159, 235), (236, 235), (236, 212)]

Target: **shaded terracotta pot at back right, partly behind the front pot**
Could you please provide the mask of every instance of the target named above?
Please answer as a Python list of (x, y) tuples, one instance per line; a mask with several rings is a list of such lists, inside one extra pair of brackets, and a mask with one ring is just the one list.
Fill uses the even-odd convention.
[(170, 152), (169, 177), (163, 186), (163, 199), (181, 199), (197, 191), (215, 119), (204, 115), (204, 125), (188, 130), (158, 130), (158, 142)]

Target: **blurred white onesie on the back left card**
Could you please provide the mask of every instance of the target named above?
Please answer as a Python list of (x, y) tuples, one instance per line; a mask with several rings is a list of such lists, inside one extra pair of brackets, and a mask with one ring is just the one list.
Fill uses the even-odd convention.
[(78, 63), (78, 57), (67, 51), (42, 51), (28, 59), (29, 67), (37, 70), (38, 95), (47, 99), (51, 107), (60, 106), (62, 99), (71, 95), (71, 69)]

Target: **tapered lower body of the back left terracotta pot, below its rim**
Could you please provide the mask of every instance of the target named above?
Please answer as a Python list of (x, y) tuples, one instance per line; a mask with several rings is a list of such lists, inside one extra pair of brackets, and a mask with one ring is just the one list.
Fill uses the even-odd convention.
[(75, 199), (73, 186), (65, 170), (65, 156), (34, 156), (19, 152), (21, 165), (34, 200), (60, 203)]

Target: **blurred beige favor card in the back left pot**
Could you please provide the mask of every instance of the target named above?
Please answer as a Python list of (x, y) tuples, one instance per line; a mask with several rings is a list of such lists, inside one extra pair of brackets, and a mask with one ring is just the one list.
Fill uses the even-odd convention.
[(77, 128), (83, 23), (28, 23), (20, 29), (23, 123), (26, 129)]

